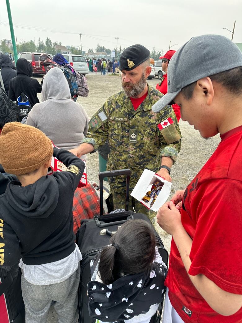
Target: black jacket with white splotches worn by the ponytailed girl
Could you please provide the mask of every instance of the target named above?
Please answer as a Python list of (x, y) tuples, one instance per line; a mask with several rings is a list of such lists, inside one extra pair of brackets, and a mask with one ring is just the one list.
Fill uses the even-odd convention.
[(88, 310), (99, 322), (136, 323), (149, 321), (162, 301), (167, 267), (156, 247), (151, 268), (146, 272), (125, 275), (113, 284), (103, 284), (98, 271), (99, 253), (91, 261), (88, 287)]

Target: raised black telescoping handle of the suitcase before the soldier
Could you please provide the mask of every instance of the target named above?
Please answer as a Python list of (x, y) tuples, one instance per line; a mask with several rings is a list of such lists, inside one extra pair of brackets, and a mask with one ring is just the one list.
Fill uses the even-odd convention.
[(105, 177), (126, 175), (125, 211), (128, 211), (130, 174), (131, 174), (130, 169), (120, 169), (118, 171), (106, 171), (106, 172), (100, 172), (98, 174), (98, 176), (99, 176), (99, 194), (100, 194), (100, 215), (102, 215), (102, 213), (103, 213), (103, 179)]

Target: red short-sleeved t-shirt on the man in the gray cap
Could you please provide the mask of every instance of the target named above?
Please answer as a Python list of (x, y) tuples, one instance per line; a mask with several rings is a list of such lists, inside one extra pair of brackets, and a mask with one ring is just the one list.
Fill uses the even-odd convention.
[[(188, 273), (203, 274), (221, 289), (242, 294), (242, 126), (220, 137), (183, 195), (181, 221), (193, 240)], [(242, 322), (242, 308), (226, 317), (207, 304), (187, 275), (173, 239), (165, 285), (185, 323)]]

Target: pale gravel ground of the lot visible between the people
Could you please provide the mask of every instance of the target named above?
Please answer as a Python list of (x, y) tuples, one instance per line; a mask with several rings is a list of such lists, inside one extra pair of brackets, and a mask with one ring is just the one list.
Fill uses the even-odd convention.
[[(41, 81), (41, 77), (36, 78)], [(86, 75), (86, 78), (90, 89), (89, 95), (87, 98), (79, 97), (77, 102), (82, 104), (89, 118), (91, 118), (106, 99), (122, 89), (121, 77), (112, 75), (101, 76), (100, 73), (90, 73)], [(151, 86), (156, 87), (158, 79), (156, 77), (147, 80), (147, 82)], [(39, 95), (39, 98), (41, 98), (41, 95)], [(194, 178), (215, 151), (220, 141), (219, 135), (209, 140), (203, 139), (197, 130), (182, 120), (180, 120), (179, 126), (183, 137), (182, 148), (178, 160), (171, 171), (173, 184), (170, 197), (176, 190), (186, 188), (187, 184)], [(89, 180), (98, 183), (98, 169), (98, 154), (89, 154), (87, 156), (87, 176)], [(156, 230), (159, 232), (166, 249), (170, 251), (171, 236), (164, 232), (158, 224), (156, 224)], [(56, 315), (54, 311), (51, 311), (48, 323), (55, 323), (56, 321)]]

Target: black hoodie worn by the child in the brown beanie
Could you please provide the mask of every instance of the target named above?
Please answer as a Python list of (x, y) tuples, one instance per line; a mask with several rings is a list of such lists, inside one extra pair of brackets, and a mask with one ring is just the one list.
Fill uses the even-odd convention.
[(66, 172), (25, 187), (12, 181), (0, 196), (0, 265), (13, 266), (21, 257), (26, 265), (42, 265), (75, 250), (72, 204), (85, 164), (64, 149), (54, 148), (54, 156)]

